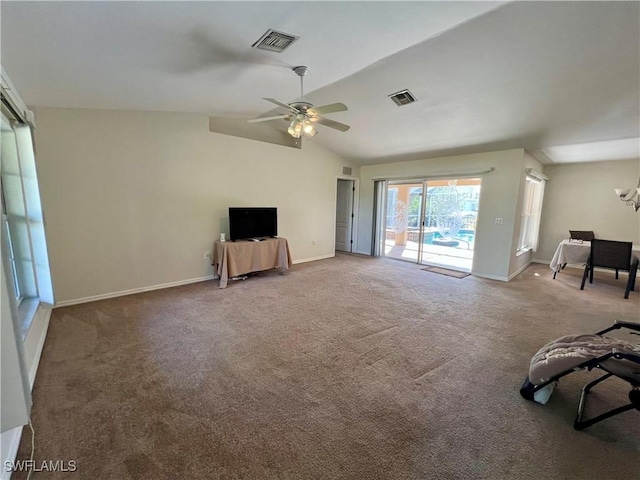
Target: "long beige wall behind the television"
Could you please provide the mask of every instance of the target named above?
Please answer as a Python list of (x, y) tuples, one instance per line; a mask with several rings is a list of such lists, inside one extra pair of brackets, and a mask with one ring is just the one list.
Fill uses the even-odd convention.
[[(229, 206), (278, 208), (294, 261), (334, 254), (340, 157), (208, 131), (199, 114), (37, 108), (56, 301), (213, 274)], [(353, 166), (353, 175), (359, 170)]]

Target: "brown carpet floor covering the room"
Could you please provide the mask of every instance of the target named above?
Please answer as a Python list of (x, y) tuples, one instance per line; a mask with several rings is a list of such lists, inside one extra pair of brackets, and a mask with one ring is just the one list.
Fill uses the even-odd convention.
[[(549, 340), (640, 320), (624, 275), (511, 282), (358, 255), (54, 310), (32, 479), (639, 479), (640, 412), (577, 432), (581, 387), (518, 390)], [(622, 338), (626, 338), (622, 336)], [(638, 337), (631, 338), (637, 342)], [(626, 402), (609, 380), (589, 411)], [(26, 459), (25, 429), (18, 453)], [(15, 479), (23, 479), (20, 473)]]

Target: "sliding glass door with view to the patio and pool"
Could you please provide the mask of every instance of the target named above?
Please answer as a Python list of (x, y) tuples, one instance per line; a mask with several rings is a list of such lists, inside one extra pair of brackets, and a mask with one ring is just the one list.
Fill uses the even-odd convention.
[(471, 271), (479, 178), (389, 182), (385, 255)]

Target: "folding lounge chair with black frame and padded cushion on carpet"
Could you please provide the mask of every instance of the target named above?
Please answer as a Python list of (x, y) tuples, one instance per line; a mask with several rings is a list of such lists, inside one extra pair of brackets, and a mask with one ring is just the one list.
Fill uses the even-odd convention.
[[(615, 322), (595, 335), (568, 335), (548, 343), (531, 359), (529, 376), (522, 384), (520, 394), (527, 400), (545, 404), (562, 377), (580, 369), (590, 371), (599, 368), (606, 373), (582, 389), (573, 427), (583, 430), (619, 413), (633, 409), (640, 411), (640, 343), (604, 336), (605, 333), (621, 328), (633, 330), (633, 335), (640, 335), (635, 333), (640, 332), (640, 323)], [(584, 419), (589, 391), (612, 376), (629, 382), (630, 403)]]

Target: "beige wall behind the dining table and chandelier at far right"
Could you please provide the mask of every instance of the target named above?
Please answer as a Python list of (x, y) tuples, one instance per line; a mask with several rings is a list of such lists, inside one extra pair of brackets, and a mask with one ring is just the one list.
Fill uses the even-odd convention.
[(640, 244), (640, 212), (627, 207), (614, 188), (638, 184), (640, 160), (547, 165), (540, 248), (548, 262), (571, 230), (593, 230), (596, 237)]

